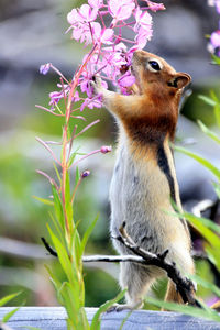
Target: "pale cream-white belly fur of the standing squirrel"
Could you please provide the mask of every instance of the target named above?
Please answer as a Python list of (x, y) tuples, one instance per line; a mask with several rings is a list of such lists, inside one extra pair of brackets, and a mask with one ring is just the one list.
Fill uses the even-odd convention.
[[(190, 243), (182, 221), (167, 213), (174, 213), (167, 178), (147, 155), (136, 162), (130, 155), (128, 140), (121, 138), (110, 187), (111, 232), (118, 235), (125, 222), (135, 243), (153, 253), (169, 249), (167, 257), (178, 263), (179, 253), (189, 254)], [(116, 240), (113, 243), (120, 253), (128, 253)]]

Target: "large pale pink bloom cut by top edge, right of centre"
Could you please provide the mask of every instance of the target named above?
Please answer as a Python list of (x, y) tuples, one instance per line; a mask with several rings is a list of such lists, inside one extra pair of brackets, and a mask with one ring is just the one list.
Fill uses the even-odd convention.
[(135, 8), (133, 0), (109, 0), (109, 13), (117, 21), (127, 20)]

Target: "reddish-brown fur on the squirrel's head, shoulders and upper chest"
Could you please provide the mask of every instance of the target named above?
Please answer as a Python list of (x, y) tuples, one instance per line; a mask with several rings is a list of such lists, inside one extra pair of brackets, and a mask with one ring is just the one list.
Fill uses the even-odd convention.
[[(145, 69), (148, 58), (158, 59), (163, 69), (152, 73)], [(165, 135), (173, 141), (178, 119), (178, 103), (182, 89), (190, 81), (190, 76), (176, 73), (163, 58), (139, 51), (133, 56), (133, 72), (136, 77), (138, 96), (131, 96), (129, 112), (124, 112), (124, 102), (121, 96), (114, 99), (114, 108), (120, 117), (131, 141), (139, 143), (162, 142)], [(177, 79), (177, 87), (172, 87)]]

